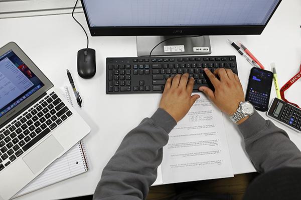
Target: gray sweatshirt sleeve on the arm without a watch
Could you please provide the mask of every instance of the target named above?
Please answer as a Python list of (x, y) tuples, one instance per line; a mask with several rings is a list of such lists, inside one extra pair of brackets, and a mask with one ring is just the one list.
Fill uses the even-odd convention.
[(176, 124), (175, 119), (161, 108), (152, 117), (143, 119), (124, 137), (104, 167), (93, 199), (145, 199), (149, 186), (157, 178), (162, 147), (167, 144), (168, 133)]

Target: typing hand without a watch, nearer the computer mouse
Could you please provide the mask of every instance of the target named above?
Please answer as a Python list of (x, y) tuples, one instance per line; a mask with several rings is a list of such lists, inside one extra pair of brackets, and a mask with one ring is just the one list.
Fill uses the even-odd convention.
[(193, 103), (200, 97), (198, 94), (191, 96), (193, 84), (194, 78), (189, 78), (188, 73), (177, 74), (166, 81), (159, 107), (167, 111), (177, 122), (187, 114)]

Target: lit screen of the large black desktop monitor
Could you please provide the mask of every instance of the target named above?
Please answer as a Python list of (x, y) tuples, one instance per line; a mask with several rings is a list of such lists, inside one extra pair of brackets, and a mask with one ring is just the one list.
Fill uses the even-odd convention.
[(82, 0), (90, 27), (265, 25), (280, 0)]

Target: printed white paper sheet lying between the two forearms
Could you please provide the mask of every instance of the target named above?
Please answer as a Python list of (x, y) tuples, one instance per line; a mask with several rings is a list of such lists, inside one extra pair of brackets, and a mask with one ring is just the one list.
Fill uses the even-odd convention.
[(233, 176), (222, 112), (200, 95), (170, 132), (154, 184)]

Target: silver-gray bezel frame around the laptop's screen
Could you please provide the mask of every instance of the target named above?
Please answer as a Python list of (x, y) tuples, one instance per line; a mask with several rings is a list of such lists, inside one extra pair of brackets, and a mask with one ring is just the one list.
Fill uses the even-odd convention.
[(24, 101), (20, 102), (16, 107), (11, 109), (5, 115), (0, 117), (0, 127), (3, 127), (7, 124), (12, 118), (14, 118), (21, 111), (26, 109), (33, 101), (38, 99), (41, 95), (45, 94), (51, 87), (53, 87), (52, 82), (44, 75), (44, 73), (38, 68), (38, 66), (26, 55), (26, 53), (18, 46), (15, 42), (9, 42), (0, 48), (0, 55), (5, 54), (9, 50), (13, 50), (14, 53), (33, 71), (33, 73), (43, 82), (44, 86), (42, 86), (39, 90), (34, 92)]

